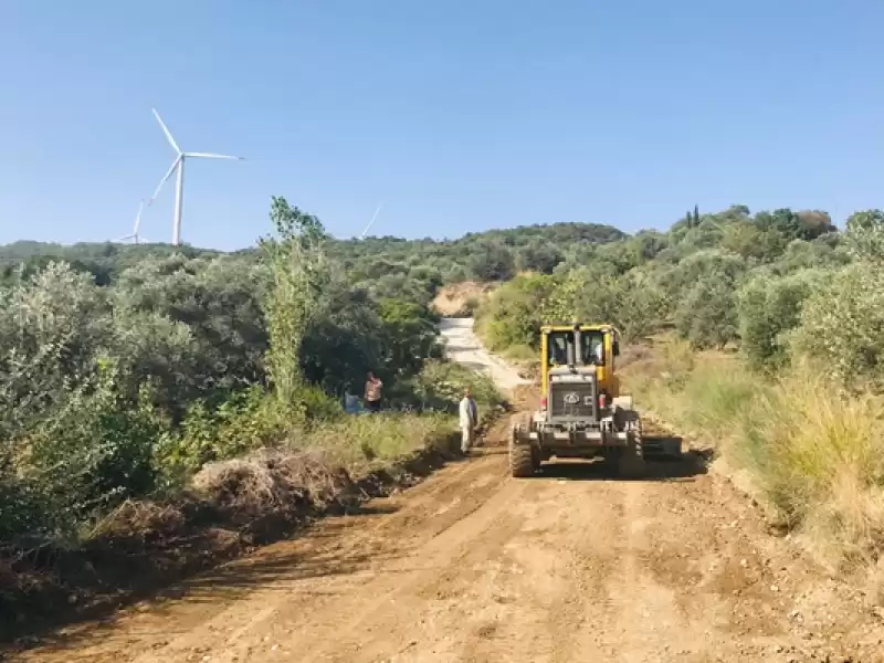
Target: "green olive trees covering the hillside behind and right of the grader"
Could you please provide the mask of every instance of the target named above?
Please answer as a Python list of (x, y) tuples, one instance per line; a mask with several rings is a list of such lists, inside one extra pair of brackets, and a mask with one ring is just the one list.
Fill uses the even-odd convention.
[(843, 232), (820, 211), (688, 212), (666, 232), (578, 246), (518, 275), (478, 311), (496, 349), (536, 347), (543, 322), (608, 320), (628, 339), (674, 330), (695, 349), (738, 346), (776, 370), (807, 357), (843, 386), (880, 385), (884, 212)]

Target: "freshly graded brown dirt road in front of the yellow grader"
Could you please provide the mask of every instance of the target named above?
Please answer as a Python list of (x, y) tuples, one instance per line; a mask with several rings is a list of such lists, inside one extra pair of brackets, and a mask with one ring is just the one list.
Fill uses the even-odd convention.
[(22, 660), (884, 660), (869, 608), (767, 535), (698, 454), (643, 481), (587, 464), (516, 481), (506, 424), (414, 488)]

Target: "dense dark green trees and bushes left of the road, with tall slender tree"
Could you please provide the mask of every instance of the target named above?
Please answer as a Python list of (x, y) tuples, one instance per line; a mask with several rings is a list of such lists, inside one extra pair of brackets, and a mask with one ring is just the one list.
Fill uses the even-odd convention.
[(261, 252), (0, 251), (0, 549), (73, 541), (124, 499), (339, 418), (369, 370), (415, 398), (440, 269), (369, 251), (348, 275), (318, 219), (283, 198), (271, 217)]

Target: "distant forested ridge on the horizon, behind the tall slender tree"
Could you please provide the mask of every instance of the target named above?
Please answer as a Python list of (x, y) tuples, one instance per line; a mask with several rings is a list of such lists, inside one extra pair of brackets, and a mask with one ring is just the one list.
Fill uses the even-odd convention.
[[(429, 302), (442, 284), (463, 280), (505, 281), (525, 270), (551, 272), (577, 246), (622, 240), (625, 233), (594, 223), (554, 223), (470, 233), (452, 241), (400, 238), (335, 240), (326, 236), (325, 251), (348, 272), (355, 284), (380, 296), (407, 296)], [(254, 264), (256, 248), (233, 253), (169, 244), (81, 243), (74, 245), (15, 242), (0, 246), (0, 283), (33, 274), (53, 260), (91, 274), (109, 285), (144, 259), (183, 256), (189, 260), (228, 257)]]

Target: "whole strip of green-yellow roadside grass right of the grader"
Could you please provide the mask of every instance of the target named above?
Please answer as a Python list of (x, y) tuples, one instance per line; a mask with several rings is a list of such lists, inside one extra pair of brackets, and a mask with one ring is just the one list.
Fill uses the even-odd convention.
[(639, 407), (713, 443), (778, 524), (832, 568), (878, 564), (884, 399), (843, 393), (819, 367), (768, 381), (733, 355), (688, 354), (663, 344), (624, 371)]

